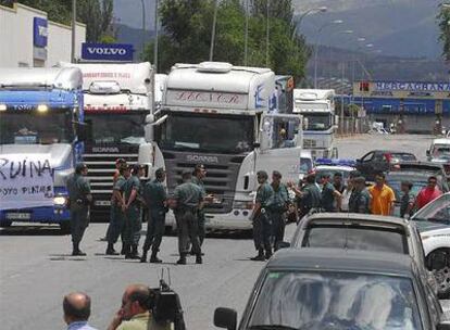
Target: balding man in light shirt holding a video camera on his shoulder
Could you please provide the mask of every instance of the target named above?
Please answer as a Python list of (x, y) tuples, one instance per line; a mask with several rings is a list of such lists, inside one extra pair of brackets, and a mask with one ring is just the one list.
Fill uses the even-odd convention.
[(145, 284), (130, 284), (122, 295), (121, 308), (108, 330), (170, 330), (170, 322), (157, 322), (151, 310), (154, 292)]

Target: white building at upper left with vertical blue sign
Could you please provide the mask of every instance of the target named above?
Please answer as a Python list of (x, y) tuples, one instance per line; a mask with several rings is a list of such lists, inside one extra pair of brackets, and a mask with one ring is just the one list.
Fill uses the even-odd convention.
[[(86, 25), (77, 23), (75, 58), (80, 58)], [(72, 27), (51, 22), (40, 10), (0, 5), (0, 66), (53, 66), (71, 61)]]

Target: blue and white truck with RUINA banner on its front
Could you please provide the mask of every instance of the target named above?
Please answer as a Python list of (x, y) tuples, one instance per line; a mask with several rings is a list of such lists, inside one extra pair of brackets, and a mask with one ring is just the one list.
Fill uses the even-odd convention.
[(66, 177), (82, 161), (82, 72), (0, 68), (0, 226), (70, 229)]

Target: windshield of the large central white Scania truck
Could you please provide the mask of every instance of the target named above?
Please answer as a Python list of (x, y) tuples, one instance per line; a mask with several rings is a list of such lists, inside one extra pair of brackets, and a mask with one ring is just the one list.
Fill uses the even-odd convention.
[(166, 150), (245, 153), (253, 149), (252, 116), (171, 114), (161, 126), (159, 144)]

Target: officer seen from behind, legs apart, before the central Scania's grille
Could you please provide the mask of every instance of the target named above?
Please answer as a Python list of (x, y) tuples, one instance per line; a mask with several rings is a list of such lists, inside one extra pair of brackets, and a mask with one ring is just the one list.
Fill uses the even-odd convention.
[(203, 192), (199, 186), (192, 183), (192, 173), (184, 170), (183, 183), (174, 190), (171, 206), (174, 208), (178, 231), (178, 265), (186, 265), (186, 256), (189, 253), (188, 241), (192, 245), (196, 255), (196, 264), (202, 264), (201, 246), (199, 240), (198, 211), (203, 201)]

